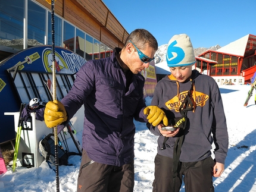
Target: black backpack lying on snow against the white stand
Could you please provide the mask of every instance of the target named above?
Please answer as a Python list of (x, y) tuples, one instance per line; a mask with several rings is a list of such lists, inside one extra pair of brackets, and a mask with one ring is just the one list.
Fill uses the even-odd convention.
[[(61, 146), (61, 142), (59, 138), (58, 138), (57, 147), (58, 147), (58, 165), (69, 165), (68, 153)], [(53, 133), (48, 134), (48, 136), (44, 136), (43, 139), (39, 141), (38, 150), (39, 150), (39, 153), (46, 159), (46, 162), (48, 163), (48, 165), (49, 163), (51, 164), (55, 163), (55, 142), (54, 142)]]

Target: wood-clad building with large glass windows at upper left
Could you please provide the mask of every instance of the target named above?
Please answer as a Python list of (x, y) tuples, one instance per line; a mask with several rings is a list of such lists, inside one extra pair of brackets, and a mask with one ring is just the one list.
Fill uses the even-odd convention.
[[(52, 44), (48, 2), (0, 2), (0, 61), (31, 46)], [(57, 0), (54, 7), (55, 45), (86, 59), (109, 56), (129, 35), (101, 0)]]

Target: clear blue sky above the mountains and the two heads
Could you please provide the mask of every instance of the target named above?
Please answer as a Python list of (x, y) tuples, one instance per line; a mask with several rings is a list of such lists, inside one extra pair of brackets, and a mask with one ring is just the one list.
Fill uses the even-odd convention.
[(246, 34), (256, 35), (255, 0), (102, 1), (128, 33), (146, 29), (158, 46), (180, 33), (191, 37), (193, 48), (222, 47)]

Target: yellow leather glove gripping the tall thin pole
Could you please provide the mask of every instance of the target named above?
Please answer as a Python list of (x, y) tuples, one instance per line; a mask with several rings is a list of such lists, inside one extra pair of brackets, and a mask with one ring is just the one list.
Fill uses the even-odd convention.
[(45, 124), (48, 128), (56, 127), (67, 121), (67, 112), (63, 103), (58, 100), (49, 101), (45, 105)]

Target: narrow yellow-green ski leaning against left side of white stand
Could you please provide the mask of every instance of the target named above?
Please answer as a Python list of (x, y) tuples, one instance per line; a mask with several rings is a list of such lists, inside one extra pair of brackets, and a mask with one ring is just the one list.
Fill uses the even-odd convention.
[(17, 130), (17, 135), (16, 135), (16, 139), (15, 139), (15, 149), (14, 149), (14, 157), (13, 157), (13, 166), (12, 169), (13, 171), (15, 171), (16, 168), (16, 162), (17, 162), (17, 156), (18, 156), (18, 147), (20, 146), (20, 134), (21, 134), (21, 130), (23, 127), (23, 121), (21, 120), (21, 113), (23, 111), (23, 109), (25, 108), (26, 104), (25, 103), (21, 103), (20, 105), (20, 115), (18, 117), (18, 130)]

